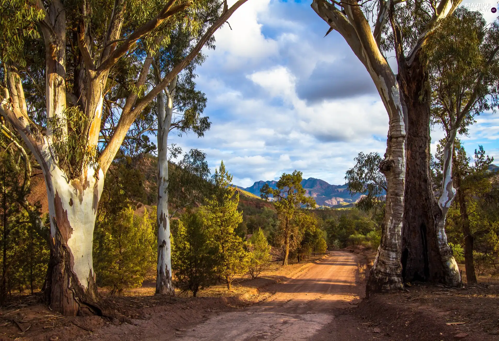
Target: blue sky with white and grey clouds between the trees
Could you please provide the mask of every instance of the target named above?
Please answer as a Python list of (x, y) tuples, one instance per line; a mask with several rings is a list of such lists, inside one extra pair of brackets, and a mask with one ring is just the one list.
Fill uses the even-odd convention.
[[(324, 37), (328, 25), (310, 2), (241, 6), (229, 19), (232, 30), (226, 24), (215, 33), (216, 49), (204, 51), (197, 69), (211, 130), (169, 140), (202, 149), (212, 170), (224, 160), (244, 187), (295, 169), (343, 184), (359, 152), (383, 154), (388, 116), (372, 80), (337, 32)], [(479, 116), (465, 148), (473, 153), (482, 144), (499, 161), (498, 130), (498, 114)], [(432, 150), (442, 137), (432, 131)]]

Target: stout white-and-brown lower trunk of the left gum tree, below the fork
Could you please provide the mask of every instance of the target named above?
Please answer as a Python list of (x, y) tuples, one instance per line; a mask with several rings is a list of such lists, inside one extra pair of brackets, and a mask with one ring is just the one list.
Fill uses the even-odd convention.
[(47, 274), (49, 302), (66, 316), (98, 313), (92, 262), (93, 231), (104, 186), (104, 173), (88, 167), (79, 179), (67, 176), (48, 162), (45, 183), (50, 218), (51, 262)]

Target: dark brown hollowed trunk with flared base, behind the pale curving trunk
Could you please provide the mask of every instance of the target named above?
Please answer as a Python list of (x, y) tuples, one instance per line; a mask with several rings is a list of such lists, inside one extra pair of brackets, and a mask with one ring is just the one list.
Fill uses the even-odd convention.
[[(460, 283), (457, 264), (447, 244), (445, 216), (453, 193), (445, 187), (439, 203), (430, 171), (430, 89), (424, 57), (418, 52), (411, 65), (399, 63), (398, 81), (407, 108), (406, 183), (402, 229), (402, 277), (406, 282)], [(451, 151), (449, 138), (446, 150)], [(452, 162), (448, 165), (452, 167)], [(451, 173), (446, 180), (451, 180)], [(451, 183), (452, 187), (452, 183)], [(452, 192), (452, 190), (451, 190)], [(447, 196), (446, 196), (447, 195)]]

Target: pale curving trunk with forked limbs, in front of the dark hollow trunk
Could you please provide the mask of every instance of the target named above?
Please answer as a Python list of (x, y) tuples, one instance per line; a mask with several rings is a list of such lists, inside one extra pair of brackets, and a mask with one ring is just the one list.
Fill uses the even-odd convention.
[[(389, 14), (392, 1), (381, 1), (374, 31), (371, 31), (371, 27), (357, 1), (350, 1), (348, 3), (342, 2), (342, 5), (344, 11), (341, 11), (334, 4), (325, 0), (313, 0), (311, 6), (315, 12), (329, 24), (330, 30), (334, 29), (338, 31), (345, 38), (352, 51), (364, 64), (378, 89), (378, 93), (385, 105), (390, 122), (385, 159), (380, 163), (380, 170), (385, 174), (387, 180), (385, 216), (382, 224), (381, 243), (366, 286), (366, 293), (369, 295), (374, 292), (387, 292), (401, 289), (403, 282), (401, 237), (404, 222), (403, 216), (405, 210), (409, 209), (406, 205), (407, 194), (405, 192), (408, 188), (406, 176), (412, 171), (410, 165), (406, 163), (407, 160), (411, 159), (411, 156), (408, 156), (409, 149), (406, 149), (408, 148), (408, 145), (406, 145), (406, 134), (408, 133), (406, 125), (409, 124), (409, 129), (411, 129), (411, 123), (408, 123), (408, 121), (413, 113), (418, 113), (417, 111), (414, 111), (412, 106), (414, 105), (414, 100), (419, 100), (419, 96), (412, 96), (412, 93), (410, 92), (412, 89), (408, 90), (405, 87), (407, 87), (407, 84), (409, 84), (409, 86), (419, 86), (419, 82), (423, 80), (423, 78), (407, 78), (409, 80), (404, 83), (404, 79), (400, 77), (400, 73), (402, 73), (402, 76), (405, 75), (405, 73), (403, 73), (405, 72), (403, 68), (406, 65), (409, 65), (408, 67), (411, 70), (414, 68), (418, 72), (421, 71), (421, 69), (418, 68), (421, 65), (416, 65), (419, 62), (417, 56), (421, 51), (421, 46), (429, 35), (430, 29), (433, 27), (432, 25), (438, 19), (452, 13), (457, 4), (448, 0), (441, 1), (437, 8), (437, 13), (429, 20), (428, 29), (422, 32), (407, 56), (404, 56), (400, 42), (395, 41), (396, 54), (399, 61), (399, 75), (397, 78), (379, 49), (381, 34), (385, 22), (387, 21), (387, 15)], [(393, 27), (393, 29), (396, 30), (395, 27)], [(394, 34), (396, 39), (400, 37), (400, 34), (397, 34), (398, 33)], [(411, 66), (412, 64), (414, 64), (414, 66)], [(422, 71), (424, 75), (426, 69), (423, 68)], [(420, 74), (417, 75), (420, 76)], [(411, 96), (408, 96), (407, 94), (410, 94)], [(426, 125), (429, 127), (429, 119), (426, 121)], [(407, 143), (410, 145), (410, 141)], [(424, 146), (426, 146), (426, 141), (423, 141), (423, 143)], [(423, 151), (424, 150), (425, 149), (423, 148)], [(421, 149), (418, 151), (421, 151)], [(420, 165), (420, 167), (423, 169), (423, 172), (427, 172), (425, 165)], [(427, 175), (429, 175), (429, 173)], [(427, 176), (426, 180), (430, 180), (429, 183), (431, 187), (431, 179)], [(422, 181), (425, 183), (425, 178), (422, 179)], [(406, 231), (411, 233), (412, 229), (409, 228), (409, 230)], [(440, 268), (445, 266), (452, 267), (453, 264), (448, 264), (446, 262), (449, 253), (447, 253), (447, 250), (445, 249), (445, 246), (447, 245), (445, 232), (443, 234), (440, 232), (437, 234), (434, 230), (434, 233), (436, 234), (434, 241), (437, 243), (437, 252), (434, 255), (436, 257), (435, 261), (444, 264), (443, 266), (437, 266), (440, 266)], [(447, 249), (449, 249), (448, 246)], [(454, 259), (452, 259), (452, 261), (454, 261)], [(453, 270), (447, 269), (444, 272), (453, 273)], [(446, 279), (448, 278), (446, 277)], [(449, 279), (449, 284), (453, 283), (454, 278)]]

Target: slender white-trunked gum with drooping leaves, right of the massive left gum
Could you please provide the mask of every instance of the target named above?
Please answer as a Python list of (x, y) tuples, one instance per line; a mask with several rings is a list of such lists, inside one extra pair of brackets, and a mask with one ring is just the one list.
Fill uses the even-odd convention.
[[(218, 7), (221, 2), (213, 2), (204, 13), (205, 27), (218, 17)], [(202, 33), (202, 32), (200, 32)], [(159, 84), (175, 65), (189, 54), (195, 46), (198, 34), (192, 34), (179, 27), (173, 33), (176, 37), (173, 43), (161, 49), (153, 60), (155, 82)], [(213, 46), (213, 39), (209, 42)], [(201, 64), (205, 56), (201, 53), (191, 61), (182, 74), (175, 75), (170, 84), (156, 97), (157, 103), (157, 137), (158, 137), (158, 264), (156, 277), (156, 294), (175, 295), (172, 282), (172, 261), (170, 242), (170, 217), (168, 212), (168, 134), (176, 130), (179, 135), (189, 131), (202, 137), (210, 128), (208, 117), (201, 116), (206, 107), (206, 96), (196, 90), (194, 70)], [(175, 114), (175, 116), (174, 116)], [(192, 153), (191, 153), (192, 154)], [(204, 157), (203, 157), (204, 160)], [(202, 176), (203, 178), (203, 176)], [(186, 184), (183, 184), (185, 186)]]

